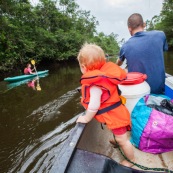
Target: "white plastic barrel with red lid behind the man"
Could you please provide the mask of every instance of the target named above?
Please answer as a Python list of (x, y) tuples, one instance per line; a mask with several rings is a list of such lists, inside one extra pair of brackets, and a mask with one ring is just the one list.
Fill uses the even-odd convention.
[(145, 95), (150, 94), (150, 86), (145, 81), (147, 76), (142, 73), (131, 72), (127, 74), (127, 79), (118, 85), (121, 95), (126, 98), (125, 106), (130, 114), (136, 103)]

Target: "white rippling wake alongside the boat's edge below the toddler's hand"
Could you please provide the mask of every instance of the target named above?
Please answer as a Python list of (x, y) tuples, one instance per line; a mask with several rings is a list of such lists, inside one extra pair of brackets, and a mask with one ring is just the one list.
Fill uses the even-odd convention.
[(77, 117), (60, 124), (53, 131), (40, 137), (21, 151), (15, 167), (10, 172), (48, 172), (53, 166), (61, 146), (67, 139)]

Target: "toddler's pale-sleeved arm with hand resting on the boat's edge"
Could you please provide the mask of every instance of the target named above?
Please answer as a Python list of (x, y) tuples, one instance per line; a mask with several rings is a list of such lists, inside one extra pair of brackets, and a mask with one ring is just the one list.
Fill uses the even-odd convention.
[(84, 116), (79, 116), (79, 118), (76, 121), (77, 123), (88, 123), (93, 119), (100, 107), (101, 95), (102, 90), (100, 87), (92, 86), (90, 88), (90, 102), (88, 105), (88, 109), (86, 110)]

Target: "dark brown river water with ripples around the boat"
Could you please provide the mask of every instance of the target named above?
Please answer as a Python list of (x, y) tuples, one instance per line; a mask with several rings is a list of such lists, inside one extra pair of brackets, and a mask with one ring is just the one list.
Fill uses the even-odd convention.
[[(173, 75), (173, 52), (165, 54), (166, 72)], [(61, 145), (83, 111), (77, 91), (78, 63), (38, 67), (49, 74), (39, 79), (41, 91), (0, 82), (0, 172), (48, 173)]]

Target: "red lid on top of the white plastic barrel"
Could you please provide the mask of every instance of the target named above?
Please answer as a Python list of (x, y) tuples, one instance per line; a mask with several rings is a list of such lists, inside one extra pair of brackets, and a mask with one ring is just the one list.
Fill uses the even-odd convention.
[(127, 73), (126, 80), (122, 81), (120, 85), (135, 85), (144, 82), (147, 79), (147, 75), (139, 72)]

